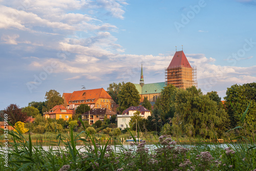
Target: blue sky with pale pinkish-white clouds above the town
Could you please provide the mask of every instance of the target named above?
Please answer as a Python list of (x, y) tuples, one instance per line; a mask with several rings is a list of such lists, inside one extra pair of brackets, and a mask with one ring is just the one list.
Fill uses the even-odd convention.
[(256, 82), (255, 0), (0, 0), (0, 110), (112, 82), (165, 81), (183, 51), (198, 88)]

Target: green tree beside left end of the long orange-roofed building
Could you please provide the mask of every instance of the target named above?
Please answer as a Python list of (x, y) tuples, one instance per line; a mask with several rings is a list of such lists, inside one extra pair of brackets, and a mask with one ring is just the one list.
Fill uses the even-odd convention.
[(47, 100), (46, 101), (47, 110), (52, 109), (55, 105), (60, 105), (64, 103), (64, 99), (56, 90), (50, 90), (49, 92), (46, 92), (45, 99)]

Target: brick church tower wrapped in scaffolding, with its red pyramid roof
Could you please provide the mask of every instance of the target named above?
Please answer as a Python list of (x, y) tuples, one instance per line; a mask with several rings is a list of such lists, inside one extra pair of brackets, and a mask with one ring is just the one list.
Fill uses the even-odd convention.
[(183, 50), (176, 51), (168, 68), (165, 69), (166, 83), (181, 89), (197, 87), (196, 73), (196, 69), (190, 66)]

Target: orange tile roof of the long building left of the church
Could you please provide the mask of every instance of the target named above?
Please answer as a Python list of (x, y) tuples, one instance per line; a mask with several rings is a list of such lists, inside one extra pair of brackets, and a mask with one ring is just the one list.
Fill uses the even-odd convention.
[[(84, 96), (83, 96), (84, 94)], [(86, 104), (93, 104), (99, 98), (108, 98), (112, 99), (112, 97), (103, 89), (92, 89), (92, 90), (81, 90), (74, 91), (73, 93), (63, 93), (62, 98), (66, 100), (67, 104), (84, 104), (84, 100), (88, 100), (85, 102)]]

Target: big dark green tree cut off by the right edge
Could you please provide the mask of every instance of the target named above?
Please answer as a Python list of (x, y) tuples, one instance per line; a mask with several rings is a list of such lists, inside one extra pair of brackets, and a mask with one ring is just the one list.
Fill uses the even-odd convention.
[[(225, 99), (225, 108), (230, 118), (231, 127), (243, 126), (241, 121), (241, 114), (246, 110), (248, 104), (249, 111), (245, 117), (245, 124), (250, 125), (247, 131), (251, 132), (256, 129), (256, 83), (247, 83), (238, 85), (234, 84), (227, 88)], [(231, 103), (232, 106), (231, 106)]]

